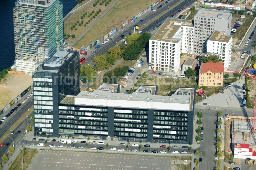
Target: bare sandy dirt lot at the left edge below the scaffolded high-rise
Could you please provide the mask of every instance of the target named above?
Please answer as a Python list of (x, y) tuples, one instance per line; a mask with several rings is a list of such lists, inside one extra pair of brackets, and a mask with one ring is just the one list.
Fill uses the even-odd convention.
[(6, 86), (0, 86), (0, 109), (27, 89), (32, 84), (32, 78), (29, 75), (7, 74), (1, 83)]

